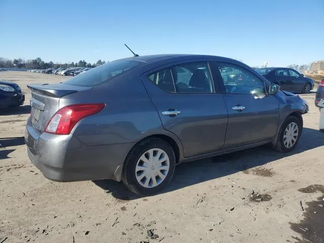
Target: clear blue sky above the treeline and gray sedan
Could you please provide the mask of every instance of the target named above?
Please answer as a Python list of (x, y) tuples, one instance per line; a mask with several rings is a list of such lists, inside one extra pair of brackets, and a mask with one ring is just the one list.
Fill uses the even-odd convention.
[(164, 53), (248, 65), (324, 59), (324, 0), (0, 0), (0, 57), (75, 62)]

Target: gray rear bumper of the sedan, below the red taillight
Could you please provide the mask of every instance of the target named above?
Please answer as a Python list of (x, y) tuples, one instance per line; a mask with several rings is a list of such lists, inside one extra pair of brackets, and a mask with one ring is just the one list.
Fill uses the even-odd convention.
[(133, 143), (88, 146), (72, 134), (39, 133), (27, 121), (25, 142), (28, 157), (53, 181), (113, 179), (120, 181), (125, 158)]

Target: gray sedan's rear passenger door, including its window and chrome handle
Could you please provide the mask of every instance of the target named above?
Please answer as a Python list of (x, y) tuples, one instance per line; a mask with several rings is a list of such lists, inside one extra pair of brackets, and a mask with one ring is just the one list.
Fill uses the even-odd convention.
[(181, 141), (184, 156), (223, 148), (227, 109), (208, 61), (169, 64), (142, 75), (163, 127)]

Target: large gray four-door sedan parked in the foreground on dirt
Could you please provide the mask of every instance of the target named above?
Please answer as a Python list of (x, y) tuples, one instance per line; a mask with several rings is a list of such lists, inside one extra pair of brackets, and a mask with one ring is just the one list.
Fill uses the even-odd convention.
[(292, 151), (308, 111), (249, 66), (203, 55), (120, 59), (28, 88), (27, 152), (45, 177), (113, 179), (139, 195), (186, 161), (263, 144)]

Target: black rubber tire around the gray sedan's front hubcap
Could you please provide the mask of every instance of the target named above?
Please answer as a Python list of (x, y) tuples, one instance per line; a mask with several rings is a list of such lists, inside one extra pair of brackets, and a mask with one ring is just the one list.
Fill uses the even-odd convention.
[[(295, 136), (292, 136), (294, 138), (296, 138), (296, 141), (294, 142), (294, 144), (292, 146), (287, 146), (287, 140), (284, 140), (284, 136), (285, 136), (285, 133), (286, 133), (286, 129), (288, 129), (289, 126), (291, 126), (291, 124), (296, 124), (297, 125), (297, 128), (298, 128), (298, 136), (297, 138)], [(295, 149), (295, 147), (297, 146), (298, 144), (298, 141), (299, 141), (299, 138), (300, 138), (300, 135), (302, 134), (302, 126), (301, 126), (301, 123), (300, 123), (300, 120), (295, 117), (295, 116), (288, 116), (284, 122), (284, 124), (282, 124), (280, 130), (279, 130), (279, 134), (278, 134), (278, 139), (277, 139), (277, 143), (275, 144), (274, 146), (274, 149), (279, 151), (279, 152), (284, 152), (284, 153), (287, 153), (287, 152), (291, 152)], [(288, 135), (288, 141), (289, 141), (289, 134)], [(287, 137), (286, 137), (287, 139)], [(285, 144), (286, 143), (286, 144)]]

